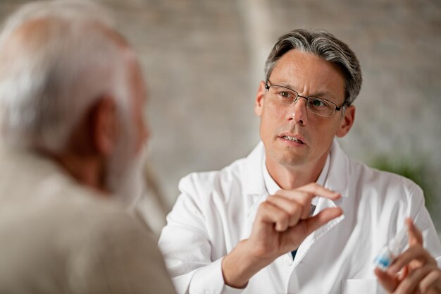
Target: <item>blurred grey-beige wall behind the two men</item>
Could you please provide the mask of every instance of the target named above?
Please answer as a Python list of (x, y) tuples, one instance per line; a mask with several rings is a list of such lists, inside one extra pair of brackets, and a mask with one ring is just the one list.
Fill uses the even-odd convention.
[[(0, 0), (1, 19), (24, 2)], [(221, 169), (259, 142), (254, 95), (275, 39), (324, 29), (352, 47), (364, 74), (354, 128), (340, 144), (422, 185), (441, 233), (440, 0), (101, 2), (142, 61), (149, 168), (166, 211), (182, 176)]]

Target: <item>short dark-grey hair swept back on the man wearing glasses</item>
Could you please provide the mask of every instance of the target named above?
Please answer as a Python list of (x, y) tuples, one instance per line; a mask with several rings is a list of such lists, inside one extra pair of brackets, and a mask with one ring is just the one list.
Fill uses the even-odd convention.
[(321, 30), (292, 30), (287, 32), (278, 38), (266, 59), (266, 80), (270, 78), (275, 63), (291, 49), (316, 54), (325, 61), (337, 65), (344, 73), (345, 78), (344, 104), (350, 105), (354, 102), (361, 90), (361, 68), (359, 60), (347, 44), (344, 44), (329, 32)]

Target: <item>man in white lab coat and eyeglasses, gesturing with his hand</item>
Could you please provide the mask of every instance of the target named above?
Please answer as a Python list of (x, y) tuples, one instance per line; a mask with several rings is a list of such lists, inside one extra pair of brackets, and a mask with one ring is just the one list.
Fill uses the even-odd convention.
[[(441, 293), (422, 190), (349, 159), (335, 141), (354, 123), (360, 88), (359, 61), (333, 35), (278, 39), (254, 106), (262, 142), (180, 181), (159, 240), (178, 293)], [(375, 269), (408, 217), (409, 250)]]

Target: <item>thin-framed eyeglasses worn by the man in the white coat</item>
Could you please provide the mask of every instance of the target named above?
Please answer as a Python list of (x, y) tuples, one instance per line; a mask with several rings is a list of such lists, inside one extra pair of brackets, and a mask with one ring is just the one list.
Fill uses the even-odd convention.
[(333, 116), (335, 111), (340, 111), (346, 104), (346, 102), (344, 102), (342, 105), (337, 106), (335, 103), (326, 99), (300, 96), (299, 93), (291, 90), (288, 87), (268, 85), (268, 80), (266, 81), (265, 89), (268, 91), (268, 95), (271, 97), (271, 99), (274, 99), (280, 104), (295, 104), (297, 100), (299, 100), (299, 97), (304, 98), (306, 99), (307, 109), (309, 109), (309, 111), (311, 111), (313, 114), (318, 114), (319, 116)]

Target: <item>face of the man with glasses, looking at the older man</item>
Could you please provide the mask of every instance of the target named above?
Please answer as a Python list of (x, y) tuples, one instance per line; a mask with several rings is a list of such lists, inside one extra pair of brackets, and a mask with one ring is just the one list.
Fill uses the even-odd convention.
[[(318, 97), (341, 106), (344, 102), (344, 75), (333, 63), (318, 56), (292, 49), (275, 64), (268, 85), (280, 85), (304, 97)], [(273, 87), (277, 89), (277, 87)], [(260, 136), (266, 149), (268, 169), (323, 168), (334, 137), (349, 132), (354, 119), (354, 106), (335, 111), (330, 117), (311, 112), (306, 99), (282, 104), (281, 100), (293, 92), (268, 92), (261, 82), (255, 108), (260, 116)], [(279, 88), (279, 90), (283, 88)], [(273, 91), (271, 91), (273, 90)], [(290, 90), (288, 90), (290, 91)]]

